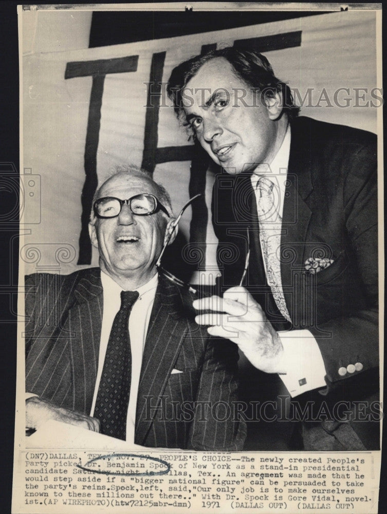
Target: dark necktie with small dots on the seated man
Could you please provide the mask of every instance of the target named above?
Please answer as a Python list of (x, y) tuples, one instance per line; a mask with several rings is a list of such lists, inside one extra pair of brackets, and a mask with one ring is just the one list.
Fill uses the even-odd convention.
[(132, 379), (129, 315), (139, 297), (137, 291), (121, 291), (121, 307), (114, 318), (107, 343), (94, 416), (101, 433), (126, 439), (126, 416)]

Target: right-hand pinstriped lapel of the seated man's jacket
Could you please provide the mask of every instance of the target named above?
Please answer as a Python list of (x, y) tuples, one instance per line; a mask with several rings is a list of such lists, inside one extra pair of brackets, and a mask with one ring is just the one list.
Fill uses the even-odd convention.
[[(179, 307), (180, 304), (180, 307)], [(146, 336), (137, 395), (135, 443), (142, 444), (157, 414), (171, 371), (187, 331), (187, 319), (179, 314), (177, 288), (159, 276), (159, 285)], [(152, 410), (150, 407), (152, 406)]]

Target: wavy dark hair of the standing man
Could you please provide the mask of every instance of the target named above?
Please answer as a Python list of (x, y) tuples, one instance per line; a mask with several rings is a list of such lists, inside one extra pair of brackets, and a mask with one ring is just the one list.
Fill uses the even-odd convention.
[[(294, 104), (289, 86), (275, 77), (269, 61), (261, 53), (254, 50), (227, 47), (211, 50), (203, 55), (182, 62), (172, 70), (167, 92), (173, 101), (174, 110), (179, 119), (183, 114), (182, 91), (187, 83), (206, 62), (216, 57), (224, 57), (231, 64), (235, 75), (245, 81), (252, 89), (265, 92), (266, 97), (274, 93), (282, 93), (283, 113), (289, 118), (298, 115), (300, 107)], [(219, 84), (219, 87), (222, 84)]]

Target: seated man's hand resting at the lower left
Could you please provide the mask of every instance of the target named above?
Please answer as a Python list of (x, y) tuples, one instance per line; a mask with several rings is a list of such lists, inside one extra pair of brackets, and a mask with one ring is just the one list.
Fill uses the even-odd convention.
[(69, 425), (76, 425), (93, 432), (100, 431), (97, 418), (58, 407), (38, 396), (32, 396), (26, 400), (26, 428), (39, 429), (49, 419), (62, 421), (62, 423), (68, 423)]

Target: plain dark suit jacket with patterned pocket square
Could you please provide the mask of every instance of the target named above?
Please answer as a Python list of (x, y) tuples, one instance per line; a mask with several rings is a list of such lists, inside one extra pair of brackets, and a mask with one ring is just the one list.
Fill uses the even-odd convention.
[[(307, 328), (315, 336), (326, 369), (327, 389), (321, 393), (331, 401), (376, 399), (376, 136), (310, 118), (294, 119), (287, 178), (281, 276), (293, 324), (279, 313), (266, 282), (255, 196), (247, 175), (220, 174), (213, 190), (222, 288), (241, 279), (248, 228), (247, 287), (275, 328)], [(305, 269), (310, 256), (328, 257), (334, 263), (311, 275)], [(339, 373), (356, 363), (361, 363), (359, 371)], [(318, 400), (316, 395), (314, 399)]]

